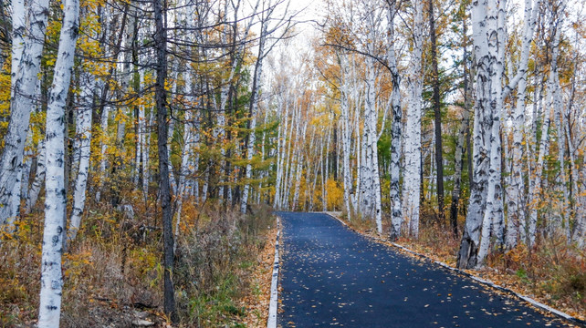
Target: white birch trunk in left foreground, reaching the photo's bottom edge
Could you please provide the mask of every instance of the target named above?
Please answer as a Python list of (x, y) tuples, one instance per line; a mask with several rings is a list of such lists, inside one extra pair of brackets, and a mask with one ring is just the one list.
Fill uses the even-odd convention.
[(65, 237), (65, 107), (79, 30), (79, 2), (66, 0), (58, 56), (47, 105), (47, 180), (45, 227), (41, 255), (38, 327), (58, 327), (63, 278), (61, 254)]

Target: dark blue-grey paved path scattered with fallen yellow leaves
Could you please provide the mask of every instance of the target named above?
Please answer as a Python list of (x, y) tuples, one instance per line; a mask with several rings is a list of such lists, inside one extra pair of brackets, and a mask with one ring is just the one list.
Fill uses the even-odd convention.
[(565, 326), (431, 261), (371, 241), (326, 214), (282, 219), (280, 327)]

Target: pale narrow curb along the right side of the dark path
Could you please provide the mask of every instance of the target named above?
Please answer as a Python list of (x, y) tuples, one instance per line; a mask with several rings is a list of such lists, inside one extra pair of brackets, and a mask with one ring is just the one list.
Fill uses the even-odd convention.
[[(326, 215), (330, 216), (333, 219), (339, 220), (342, 225), (344, 225), (345, 227), (347, 227), (351, 231), (356, 231), (356, 230), (352, 229), (348, 225), (348, 223), (344, 222), (343, 220), (341, 220), (340, 218), (338, 218), (335, 215), (331, 214), (330, 212), (320, 212), (320, 213), (326, 214)], [(513, 296), (518, 297), (519, 299), (521, 299), (521, 300), (523, 300), (525, 302), (530, 303), (531, 305), (535, 306), (536, 308), (539, 308), (542, 311), (545, 311), (545, 312), (551, 313), (553, 315), (556, 315), (556, 316), (558, 316), (558, 317), (560, 317), (562, 319), (565, 319), (566, 321), (569, 321), (572, 324), (578, 324), (581, 327), (586, 327), (586, 321), (583, 321), (581, 319), (578, 319), (576, 317), (573, 317), (573, 316), (571, 316), (568, 313), (563, 313), (560, 310), (556, 310), (556, 309), (552, 308), (551, 306), (549, 306), (547, 304), (544, 304), (544, 303), (539, 302), (537, 300), (534, 300), (534, 299), (532, 299), (532, 298), (530, 298), (530, 297), (528, 297), (526, 295), (523, 295), (523, 294), (520, 294), (518, 292), (515, 292), (515, 291), (513, 291), (511, 289), (508, 289), (507, 287), (503, 287), (503, 286), (497, 285), (494, 282), (490, 282), (490, 281), (487, 281), (487, 280), (482, 279), (480, 277), (476, 277), (474, 274), (471, 274), (471, 273), (465, 272), (463, 270), (454, 268), (454, 267), (448, 265), (447, 263), (445, 263), (443, 261), (436, 261), (436, 260), (434, 260), (434, 259), (432, 259), (432, 258), (430, 258), (430, 257), (428, 257), (428, 256), (426, 256), (426, 255), (424, 255), (422, 253), (419, 253), (417, 251), (412, 251), (412, 250), (410, 250), (410, 249), (408, 249), (408, 248), (406, 248), (406, 247), (404, 247), (404, 246), (402, 246), (402, 245), (400, 245), (398, 243), (395, 243), (395, 242), (392, 242), (392, 241), (385, 241), (385, 240), (383, 240), (381, 238), (378, 238), (378, 237), (373, 237), (373, 236), (365, 235), (365, 234), (360, 233), (359, 231), (356, 231), (356, 232), (359, 233), (359, 234), (361, 234), (361, 236), (370, 238), (370, 239), (375, 240), (375, 241), (380, 241), (380, 242), (384, 243), (385, 245), (386, 245), (385, 242), (390, 242), (391, 245), (393, 247), (395, 247), (395, 248), (398, 248), (398, 249), (401, 249), (403, 251), (412, 253), (413, 255), (415, 255), (417, 257), (420, 257), (420, 258), (423, 258), (423, 259), (425, 259), (427, 261), (433, 261), (435, 264), (438, 264), (441, 267), (444, 267), (445, 269), (447, 269), (449, 271), (452, 271), (452, 272), (461, 274), (463, 276), (466, 276), (466, 277), (472, 279), (475, 282), (479, 282), (481, 284), (484, 284), (484, 285), (486, 285), (488, 287), (494, 288), (494, 289), (496, 289), (498, 291), (501, 291), (501, 292), (507, 292), (507, 293), (509, 293), (509, 294), (511, 294)]]

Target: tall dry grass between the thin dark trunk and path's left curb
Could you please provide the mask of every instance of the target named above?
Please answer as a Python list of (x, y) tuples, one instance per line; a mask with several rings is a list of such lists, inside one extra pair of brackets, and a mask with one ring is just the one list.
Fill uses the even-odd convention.
[(249, 313), (257, 310), (252, 302), (257, 254), (266, 250), (267, 231), (275, 220), (268, 208), (254, 212), (242, 217), (210, 210), (198, 220), (203, 226), (184, 234), (176, 271), (183, 325), (244, 327)]

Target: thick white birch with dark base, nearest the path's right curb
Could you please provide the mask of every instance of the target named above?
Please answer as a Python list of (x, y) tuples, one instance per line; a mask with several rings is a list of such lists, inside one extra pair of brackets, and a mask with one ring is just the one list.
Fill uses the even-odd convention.
[[(518, 70), (504, 84), (507, 3), (491, 0), (472, 5), (473, 43), (476, 58), (476, 108), (474, 127), (474, 182), (458, 266), (483, 265), (490, 238), (504, 244), (504, 209), (501, 185), (500, 117), (504, 100), (525, 78), (528, 47), (533, 37), (537, 6), (526, 2), (524, 33)], [(531, 7), (529, 7), (531, 6)], [(480, 235), (482, 234), (482, 239)]]

